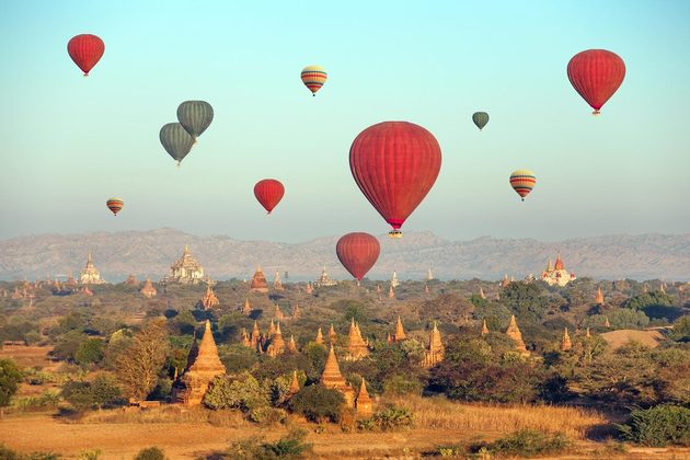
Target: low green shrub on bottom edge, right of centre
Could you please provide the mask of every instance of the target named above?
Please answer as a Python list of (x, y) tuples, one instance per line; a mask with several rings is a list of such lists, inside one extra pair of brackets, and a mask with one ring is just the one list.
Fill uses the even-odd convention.
[(493, 455), (534, 457), (563, 452), (571, 446), (571, 441), (562, 433), (545, 435), (533, 429), (522, 429), (491, 444), (474, 446), (472, 450), (479, 452), (482, 448)]

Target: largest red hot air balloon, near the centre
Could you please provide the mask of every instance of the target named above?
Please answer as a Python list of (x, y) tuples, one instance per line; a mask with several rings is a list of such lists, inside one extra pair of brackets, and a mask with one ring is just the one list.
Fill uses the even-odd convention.
[(349, 148), (349, 169), (359, 189), (393, 227), (392, 238), (432, 189), (441, 152), (429, 131), (407, 122), (384, 122), (361, 131)]

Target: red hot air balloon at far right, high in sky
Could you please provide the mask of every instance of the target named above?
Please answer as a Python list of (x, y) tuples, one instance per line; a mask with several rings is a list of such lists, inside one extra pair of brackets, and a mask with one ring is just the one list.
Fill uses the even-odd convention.
[(587, 49), (567, 64), (567, 78), (575, 91), (599, 115), (601, 106), (616, 93), (625, 78), (625, 62), (616, 53)]

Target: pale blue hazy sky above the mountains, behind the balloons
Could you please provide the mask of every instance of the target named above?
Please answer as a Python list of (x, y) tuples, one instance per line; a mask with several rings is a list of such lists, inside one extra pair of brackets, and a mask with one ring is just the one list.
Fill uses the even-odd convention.
[[(403, 231), (455, 240), (690, 231), (690, 2), (0, 1), (0, 238), (173, 227), (304, 241), (389, 227), (357, 188), (353, 139), (430, 130), (442, 166)], [(105, 55), (83, 78), (67, 42)], [(621, 56), (602, 115), (571, 87), (578, 51)], [(312, 97), (299, 73), (329, 72)], [(175, 168), (180, 102), (216, 117)], [(491, 122), (483, 133), (475, 111)], [(536, 172), (525, 203), (508, 184)], [(253, 185), (286, 186), (266, 217)], [(120, 196), (114, 218), (105, 208)]]

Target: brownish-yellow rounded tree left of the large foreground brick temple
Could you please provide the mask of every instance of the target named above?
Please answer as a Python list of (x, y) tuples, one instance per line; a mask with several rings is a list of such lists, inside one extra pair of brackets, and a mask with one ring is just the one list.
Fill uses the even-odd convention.
[(116, 365), (119, 381), (128, 394), (143, 400), (156, 388), (168, 346), (164, 320), (152, 320), (134, 336)]

